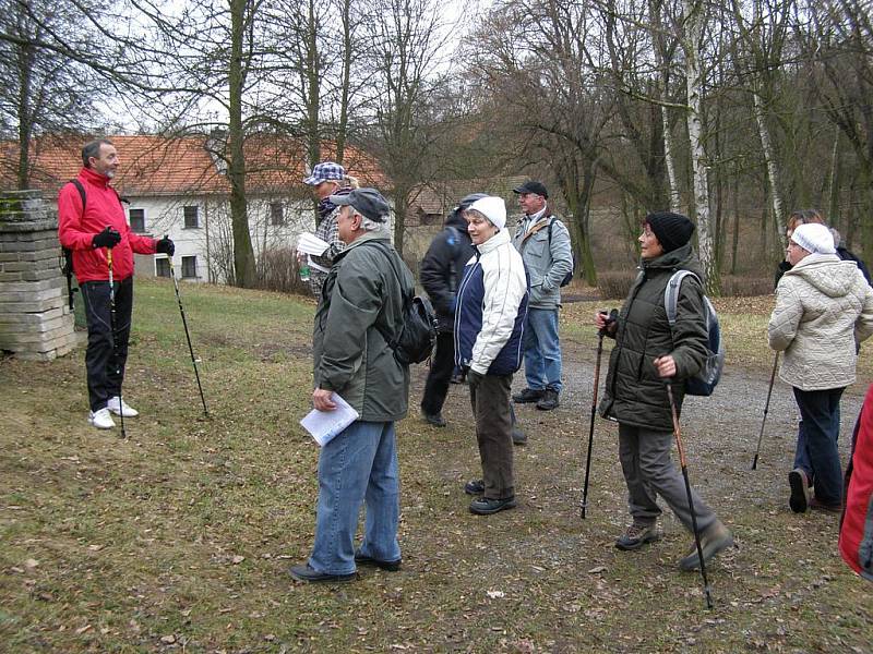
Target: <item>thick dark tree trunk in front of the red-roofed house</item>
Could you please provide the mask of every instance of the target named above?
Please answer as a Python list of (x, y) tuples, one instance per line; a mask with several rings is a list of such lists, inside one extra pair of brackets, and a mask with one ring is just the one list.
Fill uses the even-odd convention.
[(242, 66), (242, 39), (246, 0), (230, 0), (230, 65), (228, 146), (230, 157), (227, 177), (230, 181), (230, 223), (234, 228), (234, 272), (237, 286), (252, 288), (255, 282), (254, 250), (249, 231), (246, 201), (246, 155), (242, 125), (242, 89), (246, 73)]

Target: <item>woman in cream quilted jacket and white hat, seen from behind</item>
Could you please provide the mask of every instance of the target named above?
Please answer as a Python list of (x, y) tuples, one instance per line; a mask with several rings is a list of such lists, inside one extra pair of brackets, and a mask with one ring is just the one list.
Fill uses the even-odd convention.
[(873, 334), (873, 289), (854, 262), (837, 256), (824, 225), (799, 225), (786, 259), (792, 268), (776, 288), (767, 335), (770, 348), (785, 351), (779, 378), (793, 387), (801, 416), (789, 505), (796, 513), (838, 512), (839, 400), (854, 383), (857, 344)]

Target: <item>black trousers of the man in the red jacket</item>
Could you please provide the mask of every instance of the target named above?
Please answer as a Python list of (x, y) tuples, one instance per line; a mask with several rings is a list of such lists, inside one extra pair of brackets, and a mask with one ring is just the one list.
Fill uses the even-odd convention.
[(110, 310), (108, 281), (85, 281), (80, 288), (88, 323), (88, 347), (85, 350), (88, 403), (92, 411), (97, 411), (106, 407), (109, 398), (121, 395), (133, 310), (133, 277), (115, 282), (115, 318)]

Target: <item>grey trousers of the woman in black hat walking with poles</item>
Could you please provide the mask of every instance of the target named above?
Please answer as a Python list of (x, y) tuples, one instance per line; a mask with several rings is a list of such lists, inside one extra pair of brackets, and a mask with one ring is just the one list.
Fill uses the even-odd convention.
[[(655, 501), (661, 496), (677, 518), (692, 531), (689, 496), (681, 470), (673, 465), (671, 432), (653, 432), (619, 424), (619, 459), (627, 484), (627, 506), (634, 521), (651, 523), (661, 514)], [(697, 529), (706, 530), (718, 518), (701, 497), (691, 491)]]

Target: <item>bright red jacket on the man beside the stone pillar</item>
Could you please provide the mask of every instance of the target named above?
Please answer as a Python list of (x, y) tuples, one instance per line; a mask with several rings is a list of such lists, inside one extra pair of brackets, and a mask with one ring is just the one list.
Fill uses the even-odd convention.
[(127, 279), (133, 275), (133, 253), (154, 254), (156, 241), (130, 231), (124, 208), (109, 185), (109, 178), (83, 168), (79, 181), (87, 198), (84, 215), (82, 196), (73, 184), (64, 184), (58, 194), (58, 239), (73, 251), (75, 278), (80, 283), (109, 279), (106, 247), (91, 245), (94, 235), (109, 226), (121, 234), (121, 242), (112, 249), (112, 277), (119, 281)]

